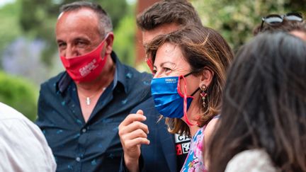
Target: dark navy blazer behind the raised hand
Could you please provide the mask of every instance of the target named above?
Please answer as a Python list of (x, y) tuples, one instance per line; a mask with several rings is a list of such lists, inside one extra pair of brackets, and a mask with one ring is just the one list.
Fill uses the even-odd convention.
[[(143, 110), (147, 120), (144, 122), (149, 128), (149, 145), (141, 146), (140, 171), (171, 171), (176, 172), (176, 148), (174, 134), (170, 134), (164, 120), (157, 122), (159, 113), (154, 108), (152, 98), (135, 107), (131, 113)], [(182, 166), (183, 164), (180, 164)], [(128, 171), (121, 159), (120, 171)]]

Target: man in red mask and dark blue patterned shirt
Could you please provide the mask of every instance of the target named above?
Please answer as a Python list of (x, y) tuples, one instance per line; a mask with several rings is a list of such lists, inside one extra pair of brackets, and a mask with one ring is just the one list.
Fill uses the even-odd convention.
[(36, 124), (57, 171), (118, 171), (118, 125), (150, 97), (151, 74), (121, 64), (111, 18), (97, 4), (62, 6), (56, 40), (66, 71), (41, 85)]

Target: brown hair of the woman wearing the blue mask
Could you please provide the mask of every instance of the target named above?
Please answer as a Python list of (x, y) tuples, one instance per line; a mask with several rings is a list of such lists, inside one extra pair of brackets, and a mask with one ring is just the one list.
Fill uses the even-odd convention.
[[(208, 105), (203, 108), (202, 102), (198, 102), (203, 115), (198, 120), (199, 127), (206, 125), (209, 120), (220, 113), (222, 88), (225, 83), (227, 67), (232, 62), (232, 50), (222, 36), (211, 28), (203, 26), (188, 26), (182, 30), (159, 35), (147, 46), (147, 57), (155, 60), (155, 55), (160, 46), (165, 42), (180, 47), (183, 57), (191, 66), (194, 76), (200, 75), (204, 67), (208, 67), (214, 73), (212, 83), (208, 87)], [(205, 113), (205, 114), (204, 114)], [(166, 118), (169, 132), (187, 134), (190, 136), (188, 125), (179, 118)]]

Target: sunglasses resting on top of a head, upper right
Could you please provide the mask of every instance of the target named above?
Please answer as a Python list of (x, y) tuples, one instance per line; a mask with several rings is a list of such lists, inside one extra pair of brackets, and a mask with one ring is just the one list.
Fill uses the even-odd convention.
[(268, 25), (278, 25), (283, 22), (284, 18), (287, 21), (299, 21), (302, 22), (302, 13), (286, 13), (283, 15), (279, 14), (270, 14), (266, 17), (261, 18), (261, 29), (263, 28), (263, 23), (267, 23)]

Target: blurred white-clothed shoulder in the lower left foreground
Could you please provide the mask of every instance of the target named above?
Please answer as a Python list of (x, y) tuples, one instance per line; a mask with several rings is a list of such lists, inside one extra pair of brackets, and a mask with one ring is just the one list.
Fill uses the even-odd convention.
[(4, 103), (0, 130), (0, 171), (55, 171), (55, 158), (39, 127)]

